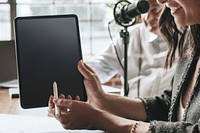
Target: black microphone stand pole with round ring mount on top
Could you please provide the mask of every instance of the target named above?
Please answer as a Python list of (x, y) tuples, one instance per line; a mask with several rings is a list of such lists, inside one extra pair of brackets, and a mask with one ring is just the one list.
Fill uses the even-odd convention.
[(124, 96), (128, 96), (129, 85), (128, 85), (128, 44), (129, 44), (129, 32), (128, 27), (135, 24), (136, 20), (123, 21), (121, 18), (121, 7), (130, 4), (126, 0), (121, 0), (115, 4), (114, 7), (114, 18), (117, 24), (121, 25), (123, 29), (120, 31), (120, 37), (124, 43)]

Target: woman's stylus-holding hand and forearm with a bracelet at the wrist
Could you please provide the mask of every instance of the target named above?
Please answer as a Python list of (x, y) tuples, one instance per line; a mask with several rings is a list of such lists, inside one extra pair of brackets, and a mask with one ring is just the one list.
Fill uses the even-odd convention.
[(136, 125), (137, 121), (113, 115), (86, 102), (53, 97), (50, 99), (51, 105), (56, 104), (61, 115), (56, 116), (54, 106), (51, 105), (50, 111), (65, 129), (97, 129), (110, 133), (132, 133), (131, 130), (145, 133), (149, 129), (149, 123), (138, 122)]

